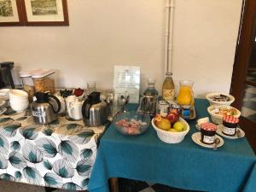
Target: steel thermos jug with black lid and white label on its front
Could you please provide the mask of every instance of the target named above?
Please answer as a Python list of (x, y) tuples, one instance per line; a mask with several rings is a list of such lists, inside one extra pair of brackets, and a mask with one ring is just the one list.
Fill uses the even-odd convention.
[(32, 116), (35, 123), (50, 124), (58, 118), (61, 102), (56, 96), (49, 93), (36, 92), (37, 100), (32, 102)]

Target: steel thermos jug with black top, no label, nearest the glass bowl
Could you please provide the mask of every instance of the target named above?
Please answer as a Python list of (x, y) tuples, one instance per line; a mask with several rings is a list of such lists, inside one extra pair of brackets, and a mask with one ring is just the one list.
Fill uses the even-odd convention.
[(84, 101), (82, 114), (87, 126), (103, 125), (108, 118), (108, 105), (100, 99), (100, 92), (92, 92)]

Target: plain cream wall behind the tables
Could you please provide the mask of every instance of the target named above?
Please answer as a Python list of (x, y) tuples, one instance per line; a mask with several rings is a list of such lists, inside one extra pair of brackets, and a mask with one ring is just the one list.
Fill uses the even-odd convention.
[[(0, 61), (56, 70), (58, 86), (113, 86), (114, 65), (164, 79), (165, 0), (68, 0), (70, 26), (0, 28)], [(173, 73), (195, 95), (230, 90), (241, 0), (176, 0)]]

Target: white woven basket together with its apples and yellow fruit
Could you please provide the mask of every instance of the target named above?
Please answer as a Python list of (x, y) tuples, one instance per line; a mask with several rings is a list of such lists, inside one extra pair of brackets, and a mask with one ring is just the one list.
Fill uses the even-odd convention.
[(165, 143), (181, 143), (189, 132), (189, 124), (177, 113), (171, 110), (166, 117), (156, 114), (152, 125), (161, 141)]

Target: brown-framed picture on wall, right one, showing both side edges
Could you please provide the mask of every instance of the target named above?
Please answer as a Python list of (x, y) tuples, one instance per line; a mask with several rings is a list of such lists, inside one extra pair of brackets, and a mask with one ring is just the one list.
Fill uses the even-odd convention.
[(25, 26), (69, 25), (67, 0), (22, 0), (22, 7)]

